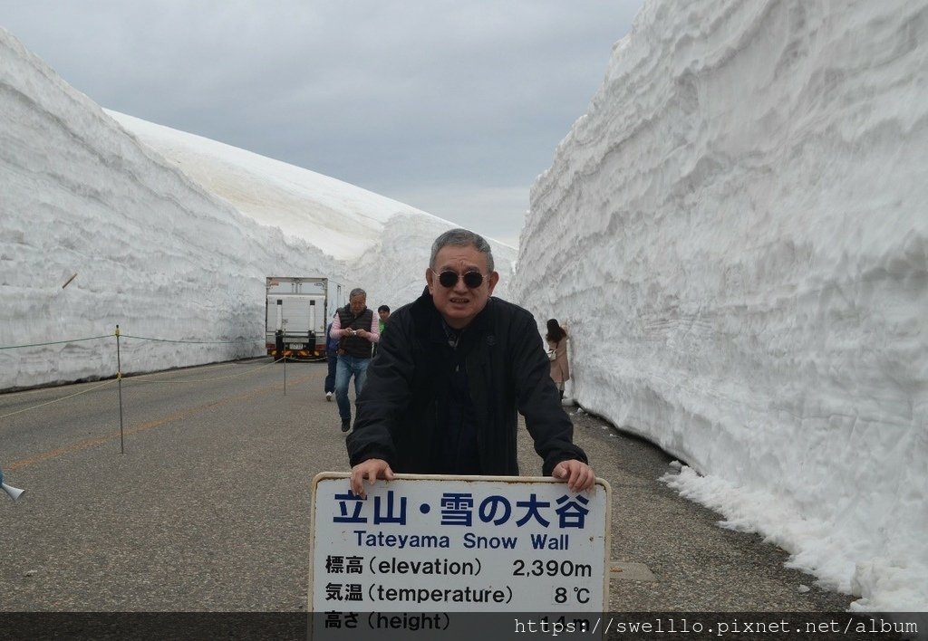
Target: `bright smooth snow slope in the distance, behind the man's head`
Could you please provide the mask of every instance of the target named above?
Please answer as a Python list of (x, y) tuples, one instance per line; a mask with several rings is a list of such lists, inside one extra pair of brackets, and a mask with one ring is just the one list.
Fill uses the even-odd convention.
[[(302, 167), (113, 111), (122, 126), (171, 165), (256, 223), (335, 257), (367, 303), (395, 309), (425, 287), (432, 241), (459, 226)], [(506, 297), (516, 251), (487, 241)]]

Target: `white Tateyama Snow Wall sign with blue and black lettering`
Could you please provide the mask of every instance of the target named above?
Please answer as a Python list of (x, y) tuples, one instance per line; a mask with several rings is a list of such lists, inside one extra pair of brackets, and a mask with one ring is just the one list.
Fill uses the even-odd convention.
[[(372, 612), (601, 612), (611, 489), (550, 478), (397, 474), (351, 493), (313, 481), (314, 627)], [(336, 621), (338, 620), (338, 622)]]

